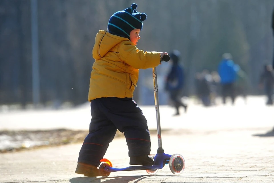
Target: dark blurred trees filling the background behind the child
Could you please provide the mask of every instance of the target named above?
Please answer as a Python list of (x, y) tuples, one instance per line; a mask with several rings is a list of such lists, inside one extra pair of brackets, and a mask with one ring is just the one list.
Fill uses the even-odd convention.
[[(247, 72), (252, 84), (249, 94), (258, 94), (262, 65), (272, 59), (271, 0), (37, 2), (42, 104), (86, 102), (95, 35), (100, 29), (106, 30), (114, 12), (134, 2), (138, 12), (148, 15), (138, 48), (178, 49), (187, 73), (187, 95), (194, 94), (195, 73), (216, 70), (225, 52)], [(0, 102), (25, 106), (32, 103), (31, 2), (1, 0), (0, 5)], [(158, 74), (165, 71), (161, 65)], [(151, 70), (140, 74), (144, 76), (138, 86), (146, 77), (152, 78)], [(141, 100), (140, 87), (134, 98)]]

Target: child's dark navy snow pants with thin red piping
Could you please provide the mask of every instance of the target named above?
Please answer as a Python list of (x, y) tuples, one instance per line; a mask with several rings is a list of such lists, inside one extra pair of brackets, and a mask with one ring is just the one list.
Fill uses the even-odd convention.
[(89, 134), (84, 139), (78, 163), (98, 167), (117, 129), (124, 132), (129, 157), (150, 154), (147, 120), (132, 98), (97, 98), (90, 102), (90, 107)]

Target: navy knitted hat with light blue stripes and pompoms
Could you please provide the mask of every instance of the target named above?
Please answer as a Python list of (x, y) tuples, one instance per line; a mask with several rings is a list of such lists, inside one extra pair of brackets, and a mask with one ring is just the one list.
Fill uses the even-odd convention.
[(130, 39), (129, 34), (133, 29), (142, 30), (142, 21), (146, 20), (147, 15), (137, 12), (136, 8), (137, 5), (133, 3), (131, 8), (114, 13), (108, 21), (108, 31)]

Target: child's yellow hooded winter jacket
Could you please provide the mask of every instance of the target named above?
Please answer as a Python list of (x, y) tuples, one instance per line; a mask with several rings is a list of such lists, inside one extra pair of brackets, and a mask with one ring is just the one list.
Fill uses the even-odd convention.
[(156, 67), (160, 53), (139, 50), (128, 38), (100, 30), (92, 49), (88, 101), (102, 97), (131, 98), (139, 69)]

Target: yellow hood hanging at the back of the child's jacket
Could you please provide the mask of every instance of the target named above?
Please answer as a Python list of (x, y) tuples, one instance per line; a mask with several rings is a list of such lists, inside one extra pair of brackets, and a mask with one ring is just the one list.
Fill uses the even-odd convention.
[(129, 41), (129, 39), (100, 30), (95, 37), (92, 57), (94, 59), (101, 59), (106, 55), (106, 53), (108, 53), (109, 50), (122, 41)]

